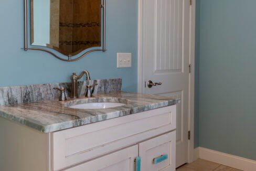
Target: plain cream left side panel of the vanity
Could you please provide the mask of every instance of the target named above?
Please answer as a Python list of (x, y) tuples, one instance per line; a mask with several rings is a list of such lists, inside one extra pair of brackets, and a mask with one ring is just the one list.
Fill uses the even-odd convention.
[(0, 170), (50, 170), (49, 138), (0, 117)]

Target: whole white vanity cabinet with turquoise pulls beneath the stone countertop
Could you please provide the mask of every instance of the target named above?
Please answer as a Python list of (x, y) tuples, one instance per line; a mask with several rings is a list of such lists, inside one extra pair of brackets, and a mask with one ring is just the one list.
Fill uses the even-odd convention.
[[(5, 122), (10, 134), (0, 152), (15, 157), (0, 154), (3, 171), (175, 170), (176, 105), (47, 134), (3, 118), (0, 130)], [(16, 136), (17, 131), (24, 136)]]

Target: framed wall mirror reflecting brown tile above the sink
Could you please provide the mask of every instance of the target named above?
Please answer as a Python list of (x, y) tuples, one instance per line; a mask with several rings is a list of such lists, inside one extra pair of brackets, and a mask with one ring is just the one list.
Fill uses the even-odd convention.
[[(81, 59), (92, 51), (105, 51), (105, 0), (24, 0), (24, 9), (24, 50), (46, 51), (64, 61)], [(31, 47), (27, 38), (28, 14)], [(67, 58), (61, 58), (48, 48)], [(86, 51), (89, 48), (92, 50)], [(86, 52), (76, 57), (82, 51)]]

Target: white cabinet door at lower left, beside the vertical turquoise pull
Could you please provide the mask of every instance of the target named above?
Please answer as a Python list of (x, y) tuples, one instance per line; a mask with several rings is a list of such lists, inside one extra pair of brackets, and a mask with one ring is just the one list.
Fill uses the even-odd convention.
[(138, 156), (138, 146), (127, 147), (118, 152), (114, 152), (92, 161), (74, 166), (68, 171), (134, 171), (134, 159)]

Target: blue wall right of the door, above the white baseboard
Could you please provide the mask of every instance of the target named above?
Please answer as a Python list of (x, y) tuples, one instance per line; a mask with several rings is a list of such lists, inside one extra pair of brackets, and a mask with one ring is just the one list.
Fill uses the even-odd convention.
[(256, 160), (256, 1), (200, 2), (199, 146)]

